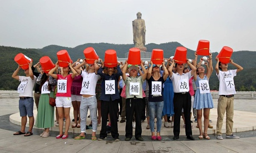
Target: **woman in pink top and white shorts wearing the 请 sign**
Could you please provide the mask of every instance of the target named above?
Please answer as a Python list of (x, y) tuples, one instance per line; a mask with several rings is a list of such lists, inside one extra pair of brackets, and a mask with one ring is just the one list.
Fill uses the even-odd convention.
[[(57, 79), (57, 94), (56, 94), (56, 108), (58, 110), (58, 121), (60, 134), (56, 136), (56, 139), (67, 139), (68, 129), (70, 128), (70, 108), (71, 103), (71, 85), (73, 79), (76, 77), (76, 70), (72, 68), (72, 63), (68, 63), (67, 67), (62, 68), (61, 74), (53, 74), (59, 67), (58, 61), (55, 64), (55, 68), (51, 69), (49, 75)], [(70, 73), (72, 71), (72, 74)], [(63, 134), (63, 118), (66, 119), (65, 132)]]

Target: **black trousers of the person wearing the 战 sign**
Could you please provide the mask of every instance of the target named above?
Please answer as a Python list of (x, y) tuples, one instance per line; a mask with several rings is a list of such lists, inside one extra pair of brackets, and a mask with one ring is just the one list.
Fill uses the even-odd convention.
[(191, 123), (190, 123), (190, 110), (191, 110), (191, 96), (189, 93), (181, 94), (174, 93), (174, 136), (180, 135), (180, 116), (183, 109), (185, 118), (185, 131), (186, 136), (192, 135)]

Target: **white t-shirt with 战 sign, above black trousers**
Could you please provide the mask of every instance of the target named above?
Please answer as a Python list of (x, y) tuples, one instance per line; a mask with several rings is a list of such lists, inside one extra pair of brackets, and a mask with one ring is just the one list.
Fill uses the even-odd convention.
[(173, 73), (173, 75), (171, 76), (171, 81), (173, 81), (173, 90), (174, 93), (181, 93), (183, 91), (180, 91), (181, 85), (180, 85), (180, 81), (185, 79), (186, 84), (182, 86), (182, 88), (187, 90), (186, 92), (189, 92), (189, 79), (193, 77), (193, 75), (191, 76), (191, 71), (188, 73), (183, 73), (182, 75), (180, 75), (179, 73)]

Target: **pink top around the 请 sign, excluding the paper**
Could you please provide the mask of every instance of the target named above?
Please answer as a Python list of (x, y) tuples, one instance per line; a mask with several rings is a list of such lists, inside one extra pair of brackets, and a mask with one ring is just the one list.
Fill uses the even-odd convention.
[[(60, 74), (57, 74), (58, 78), (57, 80), (67, 80), (67, 93), (58, 93), (56, 94), (56, 96), (66, 96), (66, 97), (71, 97), (71, 85), (73, 82), (73, 78), (71, 77), (72, 74), (68, 74), (67, 77), (63, 77)], [(59, 84), (57, 83), (56, 88), (59, 88)]]

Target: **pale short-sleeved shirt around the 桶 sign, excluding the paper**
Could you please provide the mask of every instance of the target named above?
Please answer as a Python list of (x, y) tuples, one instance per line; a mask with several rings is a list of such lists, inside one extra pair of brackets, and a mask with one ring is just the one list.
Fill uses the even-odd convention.
[[(136, 98), (142, 98), (142, 84), (144, 82), (144, 80), (142, 79), (142, 77), (126, 77), (126, 80), (124, 80), (125, 85), (126, 85), (126, 98), (134, 98), (134, 96), (136, 96)], [(130, 83), (140, 83), (140, 88), (139, 88), (139, 95), (130, 95)]]

